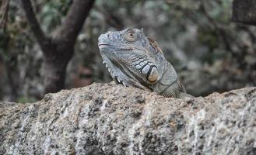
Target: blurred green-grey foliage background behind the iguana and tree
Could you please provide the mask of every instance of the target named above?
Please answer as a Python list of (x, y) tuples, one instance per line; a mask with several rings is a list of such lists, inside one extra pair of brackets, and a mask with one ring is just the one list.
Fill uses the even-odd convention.
[[(8, 22), (0, 30), (0, 101), (35, 102), (44, 96), (44, 54), (20, 3), (9, 1)], [(72, 0), (32, 5), (41, 29), (53, 36)], [(156, 40), (191, 95), (255, 86), (256, 26), (232, 22), (231, 14), (232, 0), (96, 0), (77, 36), (65, 88), (110, 82), (97, 38), (127, 27), (143, 28)]]

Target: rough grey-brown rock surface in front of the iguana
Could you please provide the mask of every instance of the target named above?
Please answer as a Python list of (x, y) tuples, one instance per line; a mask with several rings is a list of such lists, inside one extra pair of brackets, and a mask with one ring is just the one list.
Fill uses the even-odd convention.
[(92, 84), (0, 103), (0, 154), (255, 154), (256, 88), (163, 98)]

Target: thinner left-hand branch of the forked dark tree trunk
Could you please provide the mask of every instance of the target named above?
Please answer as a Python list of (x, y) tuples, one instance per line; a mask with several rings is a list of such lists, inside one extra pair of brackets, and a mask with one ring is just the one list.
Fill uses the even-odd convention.
[(50, 39), (44, 35), (44, 32), (37, 21), (35, 12), (33, 12), (33, 7), (31, 5), (30, 0), (22, 0), (22, 3), (23, 9), (25, 10), (26, 13), (26, 19), (30, 23), (33, 34), (36, 36), (37, 43), (39, 43), (43, 52), (46, 53), (49, 48), (48, 46), (50, 45)]

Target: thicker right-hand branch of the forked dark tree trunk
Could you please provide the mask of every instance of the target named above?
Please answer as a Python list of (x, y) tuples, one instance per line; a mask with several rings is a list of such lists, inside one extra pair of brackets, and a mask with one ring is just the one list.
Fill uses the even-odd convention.
[(89, 10), (92, 8), (93, 3), (94, 0), (75, 0), (64, 22), (58, 29), (55, 39), (61, 40), (61, 42), (64, 42), (67, 46), (73, 46), (86, 17), (89, 15)]

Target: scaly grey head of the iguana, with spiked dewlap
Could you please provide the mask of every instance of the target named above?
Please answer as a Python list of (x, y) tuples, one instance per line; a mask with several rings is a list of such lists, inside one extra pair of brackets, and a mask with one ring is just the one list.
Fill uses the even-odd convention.
[(149, 86), (163, 74), (163, 53), (140, 29), (124, 29), (100, 35), (100, 54), (111, 76), (124, 85), (128, 79)]

